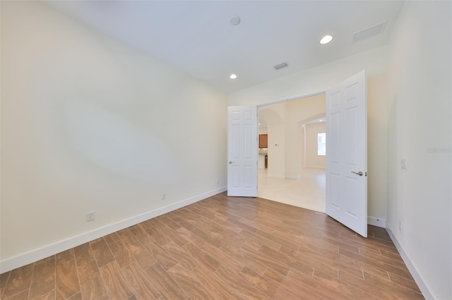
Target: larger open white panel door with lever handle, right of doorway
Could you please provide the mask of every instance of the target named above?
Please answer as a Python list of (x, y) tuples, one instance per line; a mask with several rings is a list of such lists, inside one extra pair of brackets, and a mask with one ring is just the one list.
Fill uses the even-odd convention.
[(367, 237), (367, 79), (326, 91), (326, 213)]

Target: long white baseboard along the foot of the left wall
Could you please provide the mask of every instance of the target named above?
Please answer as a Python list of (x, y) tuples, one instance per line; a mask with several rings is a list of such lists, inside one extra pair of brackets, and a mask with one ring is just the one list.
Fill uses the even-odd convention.
[(169, 211), (174, 211), (178, 208), (182, 208), (189, 204), (193, 204), (195, 202), (206, 199), (210, 196), (214, 196), (216, 194), (220, 194), (225, 192), (227, 187), (220, 187), (218, 189), (214, 189), (210, 192), (206, 192), (203, 194), (199, 194), (197, 196), (190, 197), (188, 199), (184, 199), (182, 201), (169, 204), (167, 206), (163, 206), (160, 208), (156, 208), (153, 211), (147, 211), (145, 213), (141, 213), (139, 215), (135, 215), (131, 218), (126, 218), (124, 220), (120, 220), (118, 222), (105, 225), (103, 227), (97, 228), (95, 230), (91, 230), (89, 232), (84, 232), (81, 235), (76, 235), (73, 237), (69, 237), (68, 239), (63, 239), (59, 242), (55, 242), (53, 244), (49, 244), (47, 246), (42, 246), (41, 248), (25, 252), (24, 254), (19, 254), (18, 256), (13, 256), (12, 258), (5, 259), (4, 261), (0, 261), (0, 274), (8, 272), (10, 270), (14, 270), (16, 268), (20, 268), (23, 265), (28, 265), (34, 261), (39, 261), (42, 258), (46, 258), (52, 256), (54, 254), (58, 254), (62, 251), (66, 251), (73, 247), (79, 246), (81, 244), (85, 244), (86, 242), (90, 242), (93, 239), (98, 239), (100, 237), (104, 237), (105, 235), (109, 235), (110, 233), (117, 232), (118, 230), (123, 230), (124, 228), (130, 227), (132, 225), (136, 225), (145, 220), (149, 220), (151, 218), (155, 218), (159, 215), (163, 215), (165, 213), (169, 213)]

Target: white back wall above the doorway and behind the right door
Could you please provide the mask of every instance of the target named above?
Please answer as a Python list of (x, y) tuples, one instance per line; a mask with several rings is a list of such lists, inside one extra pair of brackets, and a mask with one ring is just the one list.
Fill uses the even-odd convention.
[[(365, 69), (368, 85), (368, 215), (385, 220), (387, 203), (386, 107), (388, 101), (386, 65), (387, 48), (382, 46), (229, 94), (228, 105), (263, 105), (319, 94)], [(268, 159), (271, 159), (270, 156)]]

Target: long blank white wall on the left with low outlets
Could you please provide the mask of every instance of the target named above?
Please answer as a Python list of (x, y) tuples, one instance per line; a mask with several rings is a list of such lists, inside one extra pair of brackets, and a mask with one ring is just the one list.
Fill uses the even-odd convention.
[(44, 4), (1, 1), (1, 272), (224, 190), (226, 132), (225, 94)]

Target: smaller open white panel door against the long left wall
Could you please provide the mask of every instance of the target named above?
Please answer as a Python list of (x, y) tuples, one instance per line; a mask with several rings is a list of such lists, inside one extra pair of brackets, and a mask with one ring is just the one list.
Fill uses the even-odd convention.
[(227, 196), (257, 196), (257, 106), (227, 108)]

